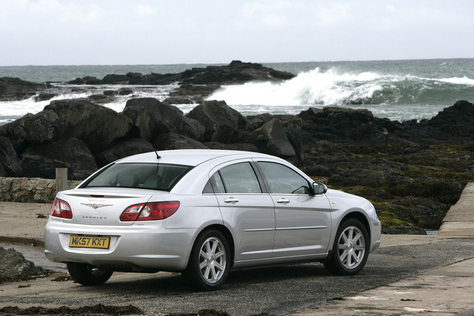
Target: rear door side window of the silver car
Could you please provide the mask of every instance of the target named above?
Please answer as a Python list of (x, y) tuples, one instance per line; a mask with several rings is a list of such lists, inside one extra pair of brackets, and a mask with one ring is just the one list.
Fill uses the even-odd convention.
[(213, 177), (216, 174), (221, 175), (227, 193), (262, 193), (257, 176), (250, 163), (228, 165), (216, 172)]

